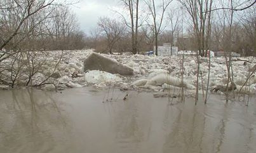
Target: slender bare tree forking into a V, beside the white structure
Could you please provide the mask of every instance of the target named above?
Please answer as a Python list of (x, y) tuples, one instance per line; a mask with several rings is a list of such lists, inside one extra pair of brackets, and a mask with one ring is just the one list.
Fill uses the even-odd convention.
[[(162, 27), (163, 19), (165, 17), (165, 11), (167, 10), (168, 6), (170, 6), (170, 4), (172, 3), (172, 0), (162, 0), (159, 7), (157, 6), (154, 0), (144, 0), (144, 2), (149, 8), (150, 15), (152, 17), (152, 22), (154, 25), (155, 50), (156, 55), (158, 55), (158, 35), (162, 32), (163, 29), (165, 29), (165, 27)], [(161, 10), (160, 12), (158, 8), (159, 10)]]

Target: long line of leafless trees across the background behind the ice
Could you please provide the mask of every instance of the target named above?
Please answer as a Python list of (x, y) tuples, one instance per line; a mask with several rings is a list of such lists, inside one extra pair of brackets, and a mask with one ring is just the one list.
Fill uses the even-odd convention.
[(0, 61), (22, 50), (144, 53), (163, 43), (201, 56), (204, 50), (256, 55), (254, 0), (120, 0), (121, 11), (99, 18), (86, 35), (70, 2), (0, 1), (0, 50), (6, 50)]

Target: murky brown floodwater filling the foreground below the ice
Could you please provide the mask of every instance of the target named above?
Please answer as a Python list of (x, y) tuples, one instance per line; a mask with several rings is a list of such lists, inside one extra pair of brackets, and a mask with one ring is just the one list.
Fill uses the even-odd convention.
[[(0, 152), (256, 152), (256, 102), (169, 105), (152, 93), (0, 91)], [(105, 96), (105, 98), (104, 98)], [(108, 101), (109, 101), (108, 100)]]

